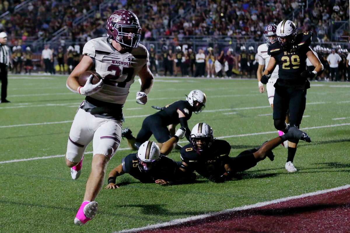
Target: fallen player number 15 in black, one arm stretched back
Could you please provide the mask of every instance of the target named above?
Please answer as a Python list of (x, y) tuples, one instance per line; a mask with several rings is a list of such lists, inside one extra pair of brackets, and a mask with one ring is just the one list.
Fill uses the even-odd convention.
[(116, 177), (125, 173), (130, 174), (142, 183), (156, 183), (172, 185), (193, 182), (194, 173), (183, 173), (181, 162), (166, 157), (173, 149), (173, 144), (185, 136), (185, 129), (181, 127), (175, 136), (166, 141), (161, 150), (154, 141), (144, 142), (137, 153), (129, 154), (121, 159), (121, 164), (109, 173), (106, 189), (119, 188)]

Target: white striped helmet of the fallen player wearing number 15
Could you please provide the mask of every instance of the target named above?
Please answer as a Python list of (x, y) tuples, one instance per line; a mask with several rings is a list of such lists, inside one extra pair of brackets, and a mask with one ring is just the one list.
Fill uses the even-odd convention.
[(145, 141), (137, 151), (137, 160), (141, 172), (152, 169), (160, 156), (158, 145), (154, 141)]

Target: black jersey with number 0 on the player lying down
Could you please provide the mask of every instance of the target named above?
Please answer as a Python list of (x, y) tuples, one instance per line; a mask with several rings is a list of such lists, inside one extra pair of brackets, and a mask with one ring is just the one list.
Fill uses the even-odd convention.
[(208, 150), (197, 152), (192, 144), (181, 148), (181, 159), (187, 163), (186, 172), (194, 170), (204, 176), (222, 175), (225, 172), (224, 165), (230, 163), (231, 145), (225, 140), (214, 140)]

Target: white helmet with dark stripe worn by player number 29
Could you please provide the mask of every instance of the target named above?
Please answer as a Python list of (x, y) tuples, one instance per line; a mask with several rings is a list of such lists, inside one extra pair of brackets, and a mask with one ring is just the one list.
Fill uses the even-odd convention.
[(283, 48), (290, 47), (295, 42), (296, 35), (296, 26), (293, 21), (283, 20), (277, 25), (277, 41)]

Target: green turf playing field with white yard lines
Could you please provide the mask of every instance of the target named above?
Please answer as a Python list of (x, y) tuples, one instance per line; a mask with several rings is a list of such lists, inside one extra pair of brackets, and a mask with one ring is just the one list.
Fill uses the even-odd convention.
[[(86, 150), (82, 175), (73, 181), (63, 154), (84, 97), (70, 92), (65, 81), (64, 76), (9, 77), (11, 103), (0, 104), (0, 232), (112, 233), (349, 184), (350, 85), (312, 82), (301, 124), (312, 142), (299, 144), (294, 159), (298, 172), (287, 173), (287, 150), (279, 146), (273, 162), (261, 161), (244, 172), (242, 180), (221, 184), (200, 177), (194, 184), (163, 187), (139, 183), (126, 174), (117, 178), (120, 189), (100, 192), (96, 217), (83, 227), (75, 226), (92, 146)], [(230, 156), (278, 136), (267, 95), (258, 92), (256, 80), (156, 78), (146, 105), (135, 103), (139, 88), (136, 80), (124, 106), (123, 127), (134, 134), (145, 116), (155, 112), (151, 105), (164, 106), (200, 89), (207, 95), (207, 107), (192, 116), (189, 127), (208, 123), (214, 137), (231, 144)], [(178, 152), (169, 156), (179, 161)], [(122, 140), (107, 174), (129, 153)]]

